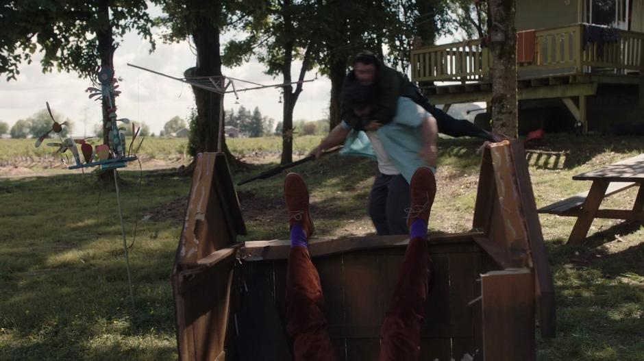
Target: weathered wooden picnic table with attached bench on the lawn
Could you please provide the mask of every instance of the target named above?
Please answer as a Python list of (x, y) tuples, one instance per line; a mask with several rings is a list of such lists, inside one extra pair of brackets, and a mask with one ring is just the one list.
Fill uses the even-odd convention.
[[(538, 210), (539, 213), (577, 217), (568, 238), (569, 243), (583, 242), (595, 218), (644, 221), (644, 154), (575, 175), (573, 179), (592, 181), (593, 184), (588, 192), (573, 195)], [(599, 209), (604, 198), (633, 186), (639, 186), (639, 191), (632, 209)]]

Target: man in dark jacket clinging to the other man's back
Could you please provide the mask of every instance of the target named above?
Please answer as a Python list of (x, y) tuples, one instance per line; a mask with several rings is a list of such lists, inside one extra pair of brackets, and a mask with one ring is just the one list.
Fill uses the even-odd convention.
[[(399, 97), (412, 99), (421, 105), (434, 118), (438, 125), (438, 132), (447, 136), (473, 136), (497, 142), (501, 140), (498, 136), (474, 125), (465, 119), (454, 119), (430, 104), (425, 97), (405, 75), (399, 73), (380, 62), (373, 53), (363, 51), (354, 58), (354, 70), (349, 71), (345, 79), (345, 92), (347, 85), (359, 82), (364, 86), (375, 86), (377, 101), (371, 113), (370, 121), (376, 121), (380, 125), (390, 123), (396, 112), (396, 104)], [(353, 107), (343, 102), (340, 109), (342, 119), (354, 129), (363, 130), (364, 120), (356, 116)]]

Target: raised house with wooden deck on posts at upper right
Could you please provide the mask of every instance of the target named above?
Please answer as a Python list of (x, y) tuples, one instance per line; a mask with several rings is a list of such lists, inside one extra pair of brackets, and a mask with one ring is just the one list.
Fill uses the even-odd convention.
[[(644, 123), (644, 0), (517, 0), (519, 134)], [(444, 110), (491, 101), (484, 39), (415, 47), (412, 80)], [(489, 112), (475, 119), (489, 127)]]

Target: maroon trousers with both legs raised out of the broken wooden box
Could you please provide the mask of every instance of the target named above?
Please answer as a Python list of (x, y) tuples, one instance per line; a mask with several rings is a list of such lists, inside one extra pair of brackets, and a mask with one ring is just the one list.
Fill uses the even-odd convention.
[[(424, 238), (410, 240), (393, 298), (380, 329), (380, 361), (418, 360), (429, 264), (427, 241)], [(291, 248), (286, 273), (286, 328), (294, 339), (296, 361), (336, 359), (323, 308), (320, 277), (311, 262), (308, 249)]]

